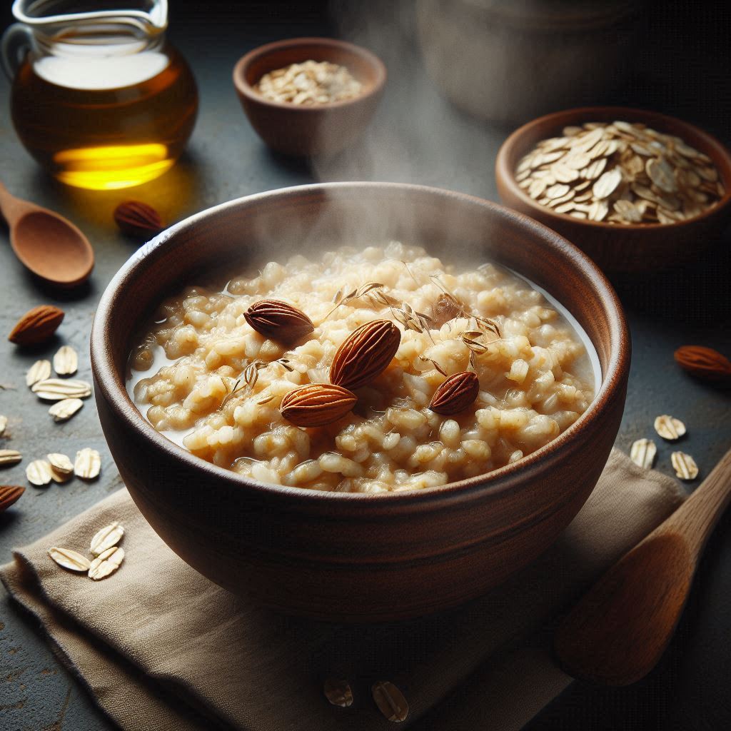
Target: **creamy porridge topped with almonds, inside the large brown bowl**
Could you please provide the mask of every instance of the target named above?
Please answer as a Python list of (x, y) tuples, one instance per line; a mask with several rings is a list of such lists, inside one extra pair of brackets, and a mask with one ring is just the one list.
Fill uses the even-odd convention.
[(586, 411), (596, 368), (567, 317), (489, 263), (460, 272), (396, 242), (298, 255), (164, 302), (128, 387), (156, 430), (255, 480), (428, 488)]

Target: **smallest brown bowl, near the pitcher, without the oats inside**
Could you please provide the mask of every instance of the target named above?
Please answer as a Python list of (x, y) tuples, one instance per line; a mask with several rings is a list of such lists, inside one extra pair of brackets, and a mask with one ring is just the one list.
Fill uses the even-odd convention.
[[(363, 84), (354, 99), (311, 106), (270, 102), (254, 85), (266, 73), (308, 60), (346, 67)], [(386, 81), (386, 67), (360, 46), (330, 38), (290, 38), (254, 48), (233, 69), (246, 116), (265, 143), (287, 155), (333, 154), (357, 140), (371, 121)]]

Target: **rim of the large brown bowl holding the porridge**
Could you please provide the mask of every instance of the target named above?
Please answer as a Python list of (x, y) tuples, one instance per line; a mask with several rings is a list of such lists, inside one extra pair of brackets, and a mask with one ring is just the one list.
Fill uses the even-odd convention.
[[(377, 189), (390, 191), (393, 194), (397, 192), (408, 194), (411, 192), (413, 194), (436, 195), (447, 199), (452, 198), (468, 205), (489, 208), (509, 224), (518, 225), (523, 230), (527, 229), (529, 232), (539, 235), (544, 243), (547, 240), (550, 241), (550, 245), (553, 246), (553, 250), (556, 251), (558, 256), (569, 259), (578, 272), (585, 279), (588, 279), (591, 288), (596, 292), (597, 298), (602, 305), (602, 310), (607, 313), (611, 342), (608, 365), (607, 368), (603, 369), (601, 385), (586, 412), (581, 414), (575, 423), (561, 432), (555, 439), (515, 463), (485, 474), (455, 482), (447, 482), (446, 485), (436, 485), (423, 490), (384, 493), (325, 492), (290, 487), (289, 485), (270, 485), (265, 482), (258, 482), (243, 477), (230, 469), (205, 461), (156, 431), (151, 423), (145, 419), (143, 413), (137, 409), (132, 399), (129, 398), (124, 375), (118, 374), (115, 368), (109, 334), (112, 311), (115, 308), (115, 301), (119, 297), (119, 292), (129, 281), (136, 279), (140, 270), (143, 270), (146, 257), (157, 249), (166, 246), (169, 242), (174, 241), (175, 235), (191, 224), (203, 221), (208, 216), (222, 213), (228, 209), (236, 209), (240, 206), (255, 206), (270, 199), (286, 201), (289, 198), (297, 198), (303, 194), (325, 196), (330, 191), (342, 192), (347, 189), (352, 189), (353, 194), (362, 194), (364, 189)], [(630, 360), (629, 330), (616, 292), (614, 292), (609, 281), (596, 264), (564, 237), (523, 213), (518, 213), (518, 211), (513, 211), (503, 205), (476, 196), (411, 183), (371, 181), (313, 183), (270, 190), (215, 205), (179, 221), (138, 249), (137, 253), (130, 257), (115, 273), (96, 308), (94, 322), (91, 327), (90, 345), (91, 369), (96, 385), (94, 397), (96, 399), (100, 398), (99, 392), (101, 392), (101, 398), (105, 398), (107, 404), (110, 405), (110, 409), (115, 413), (115, 418), (121, 419), (127, 430), (137, 431), (145, 440), (152, 442), (156, 450), (162, 450), (170, 458), (182, 461), (194, 473), (201, 474), (202, 477), (208, 475), (217, 481), (224, 480), (231, 487), (248, 489), (254, 491), (254, 493), (264, 493), (273, 498), (287, 499), (292, 507), (295, 505), (306, 506), (307, 504), (325, 503), (336, 509), (338, 505), (350, 504), (354, 508), (357, 507), (357, 512), (368, 506), (375, 510), (385, 510), (385, 512), (390, 512), (393, 515), (398, 515), (398, 512), (409, 512), (417, 504), (419, 504), (420, 510), (443, 510), (445, 504), (460, 503), (471, 499), (476, 493), (484, 494), (486, 491), (494, 496), (515, 488), (516, 480), (517, 482), (530, 482), (530, 479), (523, 480), (523, 477), (530, 478), (531, 471), (534, 473), (533, 477), (536, 477), (544, 469), (551, 469), (553, 463), (564, 458), (564, 456), (571, 455), (581, 446), (583, 425), (591, 422), (591, 420), (600, 420), (602, 414), (611, 409), (615, 398), (624, 400), (624, 382), (626, 382), (626, 376), (629, 374)]]

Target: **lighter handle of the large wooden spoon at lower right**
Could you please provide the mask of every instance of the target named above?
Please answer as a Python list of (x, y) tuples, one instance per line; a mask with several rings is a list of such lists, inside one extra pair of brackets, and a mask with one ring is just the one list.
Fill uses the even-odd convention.
[(694, 555), (698, 556), (730, 502), (731, 450), (728, 450), (700, 487), (656, 532), (682, 534)]

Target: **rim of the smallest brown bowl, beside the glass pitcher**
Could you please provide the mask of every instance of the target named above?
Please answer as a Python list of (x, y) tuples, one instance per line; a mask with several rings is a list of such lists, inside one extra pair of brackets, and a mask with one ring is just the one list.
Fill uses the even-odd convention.
[[(338, 48), (339, 50), (347, 51), (354, 56), (360, 56), (360, 58), (363, 58), (371, 65), (371, 67), (373, 67), (376, 72), (376, 80), (368, 91), (363, 91), (361, 94), (353, 96), (352, 99), (341, 99), (339, 102), (325, 102), (313, 105), (294, 105), (289, 102), (275, 102), (272, 99), (267, 99), (265, 96), (262, 96), (262, 94), (256, 91), (246, 80), (246, 67), (248, 67), (255, 59), (262, 58), (263, 56), (271, 56), (285, 48), (296, 48), (301, 45), (319, 45), (322, 46), (322, 48)], [(355, 45), (355, 43), (350, 43), (348, 41), (341, 41), (336, 38), (317, 36), (287, 38), (284, 40), (273, 41), (271, 43), (265, 43), (265, 45), (257, 46), (257, 48), (252, 48), (248, 53), (245, 53), (238, 59), (238, 61), (236, 61), (232, 72), (233, 85), (235, 86), (236, 91), (238, 91), (239, 94), (246, 96), (246, 99), (249, 99), (250, 102), (262, 105), (262, 107), (270, 107), (270, 109), (273, 110), (288, 110), (295, 113), (306, 114), (322, 112), (330, 109), (340, 109), (342, 107), (356, 104), (357, 102), (362, 102), (372, 96), (376, 96), (376, 94), (380, 94), (382, 88), (385, 86), (386, 77), (387, 71), (385, 64), (378, 56), (376, 56), (375, 53), (367, 48), (363, 48), (363, 46)]]

